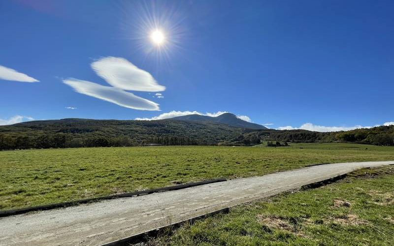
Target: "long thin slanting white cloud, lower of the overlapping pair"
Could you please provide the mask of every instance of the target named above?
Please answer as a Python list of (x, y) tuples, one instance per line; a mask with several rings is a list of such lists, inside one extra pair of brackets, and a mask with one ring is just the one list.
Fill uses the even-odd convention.
[(125, 92), (119, 88), (102, 86), (85, 80), (68, 78), (63, 83), (72, 87), (75, 92), (93, 96), (119, 106), (137, 110), (160, 110), (159, 104), (145, 98)]

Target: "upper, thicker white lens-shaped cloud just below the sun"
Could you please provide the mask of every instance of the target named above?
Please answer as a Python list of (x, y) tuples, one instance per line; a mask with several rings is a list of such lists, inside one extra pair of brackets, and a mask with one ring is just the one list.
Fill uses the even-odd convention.
[(159, 85), (153, 76), (124, 58), (105, 57), (91, 64), (97, 75), (113, 87), (126, 91), (161, 92), (165, 87)]

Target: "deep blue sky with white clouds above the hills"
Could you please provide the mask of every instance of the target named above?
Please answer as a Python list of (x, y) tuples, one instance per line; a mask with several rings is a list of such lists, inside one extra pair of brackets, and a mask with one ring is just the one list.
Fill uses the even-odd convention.
[(171, 111), (159, 119), (394, 122), (393, 12), (390, 0), (0, 1), (0, 124)]

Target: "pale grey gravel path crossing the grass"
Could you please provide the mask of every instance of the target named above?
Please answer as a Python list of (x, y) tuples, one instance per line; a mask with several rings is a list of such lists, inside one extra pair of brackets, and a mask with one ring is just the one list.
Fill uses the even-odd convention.
[(262, 177), (3, 217), (0, 218), (0, 246), (100, 245), (359, 168), (390, 164), (394, 161), (326, 164)]

